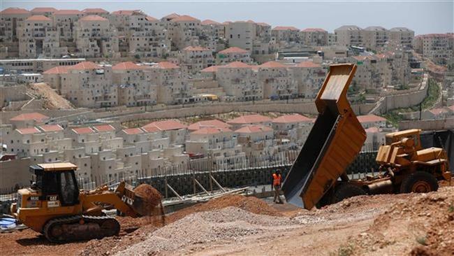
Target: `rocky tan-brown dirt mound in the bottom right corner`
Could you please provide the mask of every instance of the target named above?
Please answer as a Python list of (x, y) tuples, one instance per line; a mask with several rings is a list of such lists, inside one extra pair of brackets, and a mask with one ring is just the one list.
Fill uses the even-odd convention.
[(354, 255), (452, 255), (454, 187), (407, 196), (351, 240)]

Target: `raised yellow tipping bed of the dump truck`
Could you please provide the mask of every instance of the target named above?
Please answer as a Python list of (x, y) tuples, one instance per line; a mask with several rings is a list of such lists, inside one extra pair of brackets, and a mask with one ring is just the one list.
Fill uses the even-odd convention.
[(365, 130), (346, 97), (355, 71), (353, 64), (330, 66), (315, 101), (314, 127), (282, 185), (291, 204), (314, 207), (363, 147)]

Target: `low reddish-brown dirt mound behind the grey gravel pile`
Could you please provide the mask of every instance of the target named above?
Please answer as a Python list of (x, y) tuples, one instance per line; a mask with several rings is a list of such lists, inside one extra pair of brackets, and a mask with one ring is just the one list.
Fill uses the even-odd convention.
[(275, 208), (269, 206), (265, 201), (258, 199), (256, 197), (244, 197), (240, 194), (229, 194), (224, 197), (219, 197), (217, 199), (212, 199), (206, 203), (196, 204), (188, 208), (184, 208), (180, 211), (172, 213), (167, 216), (166, 222), (172, 223), (176, 220), (184, 218), (186, 215), (191, 213), (197, 213), (201, 211), (213, 211), (221, 208), (226, 208), (228, 206), (234, 206), (241, 208), (244, 211), (249, 211), (250, 213), (262, 214), (262, 215), (272, 215), (272, 216), (281, 216)]

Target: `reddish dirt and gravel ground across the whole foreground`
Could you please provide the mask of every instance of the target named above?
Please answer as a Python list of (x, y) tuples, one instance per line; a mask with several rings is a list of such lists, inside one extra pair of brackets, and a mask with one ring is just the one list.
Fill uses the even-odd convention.
[[(261, 209), (268, 215), (257, 215)], [(122, 236), (68, 245), (49, 244), (30, 230), (0, 234), (0, 251), (5, 255), (453, 255), (454, 187), (428, 194), (354, 197), (313, 211), (234, 196), (186, 208), (167, 220), (168, 225), (159, 229), (150, 219), (122, 218)], [(142, 227), (127, 233), (136, 226)]]

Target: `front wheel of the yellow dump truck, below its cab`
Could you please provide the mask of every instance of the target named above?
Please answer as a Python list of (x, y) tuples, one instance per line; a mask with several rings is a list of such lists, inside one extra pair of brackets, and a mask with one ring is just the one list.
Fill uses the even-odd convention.
[(401, 193), (427, 193), (438, 190), (438, 181), (432, 174), (416, 171), (404, 178), (400, 185)]

